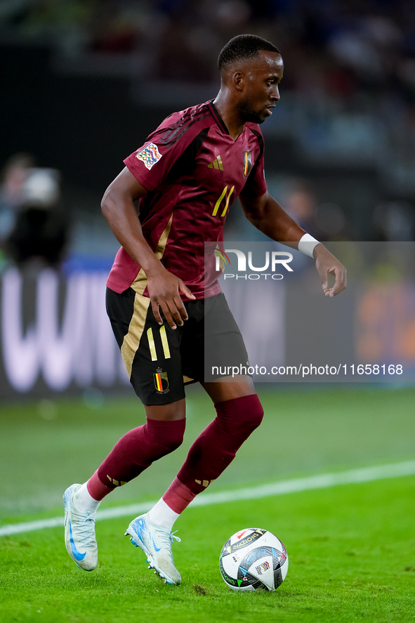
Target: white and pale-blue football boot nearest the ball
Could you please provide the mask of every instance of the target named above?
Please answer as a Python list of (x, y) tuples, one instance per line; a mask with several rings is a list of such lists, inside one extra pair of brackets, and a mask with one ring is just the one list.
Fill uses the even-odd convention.
[(174, 566), (171, 553), (173, 539), (180, 542), (179, 537), (172, 534), (168, 528), (152, 523), (148, 513), (133, 519), (125, 535), (129, 535), (131, 543), (143, 550), (147, 556), (147, 563), (150, 563), (149, 569), (154, 569), (154, 573), (159, 572), (167, 584), (180, 584), (182, 579)]

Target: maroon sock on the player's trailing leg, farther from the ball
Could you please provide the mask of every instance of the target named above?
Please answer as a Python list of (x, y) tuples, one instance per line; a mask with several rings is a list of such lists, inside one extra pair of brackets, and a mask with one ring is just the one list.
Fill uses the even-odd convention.
[(185, 426), (185, 419), (160, 421), (147, 417), (147, 424), (129, 431), (114, 445), (98, 468), (100, 482), (114, 489), (133, 480), (153, 461), (179, 447)]

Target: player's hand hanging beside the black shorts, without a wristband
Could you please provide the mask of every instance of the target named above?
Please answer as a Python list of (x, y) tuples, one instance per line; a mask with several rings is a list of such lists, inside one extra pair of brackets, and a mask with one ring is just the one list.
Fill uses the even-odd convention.
[(172, 329), (176, 329), (177, 326), (182, 327), (183, 322), (187, 320), (187, 311), (179, 293), (182, 292), (190, 300), (196, 298), (183, 281), (173, 273), (163, 269), (161, 274), (147, 277), (147, 289), (148, 294), (150, 294), (154, 318), (157, 322), (163, 324), (160, 315), (160, 308), (162, 308), (164, 317)]

